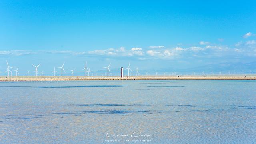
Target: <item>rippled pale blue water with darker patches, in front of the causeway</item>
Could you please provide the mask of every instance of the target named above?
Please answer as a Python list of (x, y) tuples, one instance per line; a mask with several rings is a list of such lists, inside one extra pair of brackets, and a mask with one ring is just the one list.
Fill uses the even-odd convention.
[(256, 81), (0, 83), (1, 144), (134, 143), (105, 142), (107, 132), (150, 135), (137, 143), (256, 143)]

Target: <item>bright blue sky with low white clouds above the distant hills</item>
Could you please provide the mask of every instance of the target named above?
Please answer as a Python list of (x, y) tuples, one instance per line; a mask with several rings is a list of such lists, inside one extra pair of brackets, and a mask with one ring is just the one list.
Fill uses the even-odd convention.
[[(255, 1), (0, 0), (0, 75), (127, 67), (179, 70), (256, 61)], [(76, 73), (75, 72), (75, 73)]]

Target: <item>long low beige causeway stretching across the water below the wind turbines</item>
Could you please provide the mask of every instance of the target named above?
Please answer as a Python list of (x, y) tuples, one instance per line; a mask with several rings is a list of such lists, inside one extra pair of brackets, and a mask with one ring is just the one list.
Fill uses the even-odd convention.
[(67, 80), (256, 80), (256, 76), (13, 76), (0, 77), (0, 82), (8, 81), (67, 81)]

